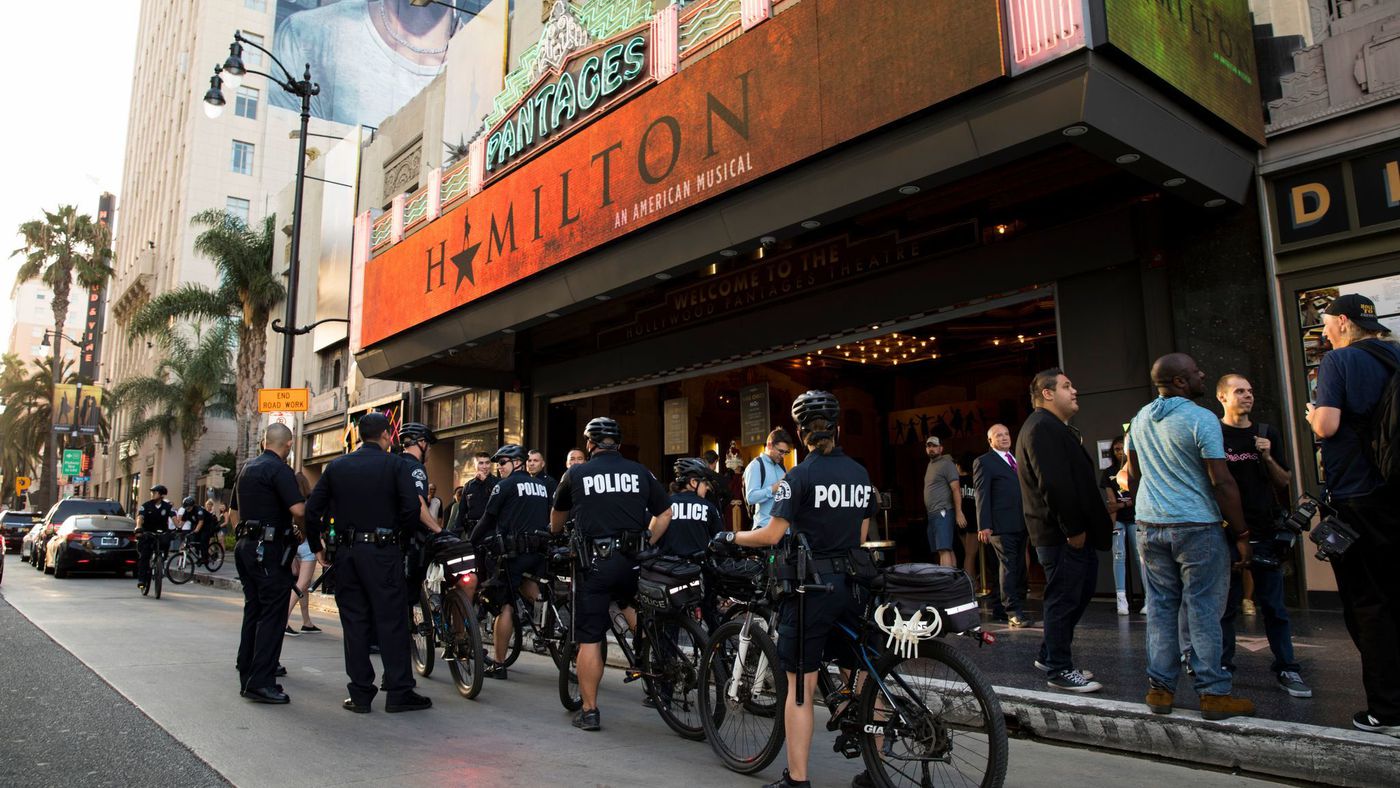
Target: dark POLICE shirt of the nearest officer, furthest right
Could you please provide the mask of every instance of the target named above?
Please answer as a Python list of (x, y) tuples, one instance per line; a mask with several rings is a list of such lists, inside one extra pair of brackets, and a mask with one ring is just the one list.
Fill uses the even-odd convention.
[(788, 472), (773, 494), (773, 516), (805, 533), (812, 554), (847, 554), (861, 543), (861, 521), (879, 508), (869, 473), (840, 448), (812, 452)]

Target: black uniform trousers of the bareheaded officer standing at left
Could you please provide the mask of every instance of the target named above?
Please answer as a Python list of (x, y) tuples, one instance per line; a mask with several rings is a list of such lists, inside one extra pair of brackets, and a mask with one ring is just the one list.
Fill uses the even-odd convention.
[(281, 549), (269, 544), (266, 565), (258, 564), (260, 542), (245, 536), (234, 544), (234, 565), (244, 584), (244, 628), (238, 638), (238, 679), (245, 690), (277, 684), (281, 635), (287, 627), (287, 600), (295, 578), (279, 564)]

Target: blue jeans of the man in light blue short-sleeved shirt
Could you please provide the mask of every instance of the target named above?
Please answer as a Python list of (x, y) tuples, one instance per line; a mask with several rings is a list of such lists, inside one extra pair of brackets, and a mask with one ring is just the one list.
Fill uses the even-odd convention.
[(1221, 617), (1229, 595), (1229, 546), (1219, 523), (1158, 526), (1138, 522), (1138, 551), (1147, 565), (1147, 675), (1176, 689), (1182, 670), (1177, 616), (1190, 626), (1196, 691), (1228, 696), (1231, 675), (1221, 668)]

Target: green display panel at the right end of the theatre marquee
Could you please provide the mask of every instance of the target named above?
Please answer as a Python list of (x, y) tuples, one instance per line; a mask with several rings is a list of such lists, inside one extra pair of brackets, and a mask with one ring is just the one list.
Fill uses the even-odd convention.
[(1103, 7), (1113, 48), (1264, 144), (1249, 0), (1103, 0)]

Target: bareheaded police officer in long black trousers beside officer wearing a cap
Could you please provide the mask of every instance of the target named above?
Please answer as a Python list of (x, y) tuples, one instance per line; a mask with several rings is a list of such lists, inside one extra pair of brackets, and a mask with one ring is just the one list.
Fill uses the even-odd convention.
[[(287, 626), (287, 598), (297, 553), (291, 518), (305, 514), (297, 477), (287, 466), (291, 430), (272, 424), (263, 432), (263, 452), (244, 465), (228, 508), (237, 512), (234, 565), (244, 585), (244, 627), (238, 638), (241, 694), (258, 703), (288, 703), (276, 683), (280, 673), (281, 635)], [(325, 564), (321, 540), (311, 550)]]

